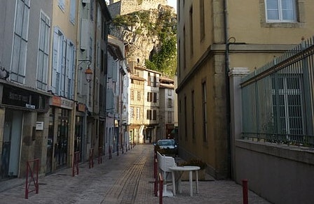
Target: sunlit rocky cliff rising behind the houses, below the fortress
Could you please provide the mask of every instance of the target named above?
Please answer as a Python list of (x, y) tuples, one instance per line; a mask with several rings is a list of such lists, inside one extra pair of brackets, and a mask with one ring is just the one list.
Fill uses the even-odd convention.
[(159, 5), (158, 9), (141, 10), (114, 18), (110, 34), (128, 45), (127, 60), (144, 66), (145, 60), (158, 52), (161, 36), (173, 36), (177, 31), (174, 8)]

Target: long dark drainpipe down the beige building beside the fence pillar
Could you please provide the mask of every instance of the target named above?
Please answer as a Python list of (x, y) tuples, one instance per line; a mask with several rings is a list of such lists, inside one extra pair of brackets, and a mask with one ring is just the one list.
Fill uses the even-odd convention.
[(228, 170), (229, 177), (233, 178), (233, 161), (231, 152), (231, 107), (230, 107), (230, 87), (229, 87), (229, 45), (228, 45), (228, 0), (224, 0), (224, 41), (226, 45), (225, 52), (225, 80), (226, 80), (226, 128), (228, 139)]

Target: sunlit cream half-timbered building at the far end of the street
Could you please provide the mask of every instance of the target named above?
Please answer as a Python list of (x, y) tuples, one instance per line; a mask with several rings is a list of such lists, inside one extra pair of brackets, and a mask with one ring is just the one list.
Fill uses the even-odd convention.
[(129, 62), (130, 143), (151, 143), (156, 140), (159, 124), (161, 73), (134, 64)]

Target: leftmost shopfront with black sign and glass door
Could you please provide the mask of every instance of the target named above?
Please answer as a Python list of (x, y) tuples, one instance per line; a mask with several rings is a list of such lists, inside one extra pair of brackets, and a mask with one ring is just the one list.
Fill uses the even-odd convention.
[(46, 151), (39, 144), (46, 142), (49, 94), (8, 84), (0, 90), (0, 180), (6, 180), (23, 176), (27, 161)]

